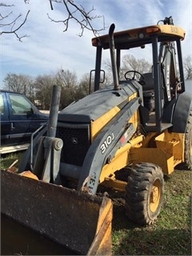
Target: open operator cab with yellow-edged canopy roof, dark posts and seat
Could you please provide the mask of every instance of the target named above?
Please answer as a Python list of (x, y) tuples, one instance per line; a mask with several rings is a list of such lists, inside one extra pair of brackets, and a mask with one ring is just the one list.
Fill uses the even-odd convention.
[[(94, 91), (100, 88), (102, 51), (110, 49), (114, 85), (118, 83), (117, 88), (121, 90), (121, 81), (124, 80), (127, 83), (137, 81), (142, 86), (143, 126), (148, 131), (159, 132), (172, 126), (171, 110), (177, 95), (185, 91), (181, 51), (181, 40), (185, 38), (185, 31), (174, 26), (171, 17), (160, 22), (163, 24), (115, 32), (112, 44), (109, 34), (92, 39), (92, 45), (97, 49)], [(114, 49), (112, 49), (113, 47)], [(146, 53), (143, 54), (145, 51)], [(122, 63), (125, 52), (134, 53), (139, 57), (150, 56), (152, 68), (145, 70), (144, 66), (140, 66), (142, 71), (123, 70)], [(118, 81), (115, 81), (115, 77), (118, 78)], [(115, 86), (114, 90), (116, 90)], [(143, 107), (149, 110), (148, 118), (146, 118), (146, 110), (143, 110)], [(150, 121), (152, 113), (154, 114), (153, 122)]]

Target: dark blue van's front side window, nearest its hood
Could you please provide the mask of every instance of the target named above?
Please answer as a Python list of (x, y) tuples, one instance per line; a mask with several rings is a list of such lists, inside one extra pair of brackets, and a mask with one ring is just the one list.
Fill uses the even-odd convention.
[(10, 94), (10, 102), (13, 110), (13, 114), (30, 114), (32, 113), (32, 108), (30, 102), (22, 95)]

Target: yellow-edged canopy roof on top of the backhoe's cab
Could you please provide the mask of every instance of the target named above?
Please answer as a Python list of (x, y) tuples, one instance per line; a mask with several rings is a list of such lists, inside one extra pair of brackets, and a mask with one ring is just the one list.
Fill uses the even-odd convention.
[[(114, 47), (116, 49), (130, 49), (142, 47), (152, 42), (154, 35), (158, 35), (158, 42), (172, 42), (183, 40), (185, 30), (174, 25), (154, 25), (114, 32)], [(93, 46), (101, 46), (103, 49), (109, 49), (109, 35), (105, 34), (98, 38), (92, 38)]]

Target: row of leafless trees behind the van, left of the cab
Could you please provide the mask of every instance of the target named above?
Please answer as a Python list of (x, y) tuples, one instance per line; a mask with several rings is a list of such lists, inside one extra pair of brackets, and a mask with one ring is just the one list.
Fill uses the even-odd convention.
[[(88, 79), (88, 77), (86, 78)], [(89, 87), (84, 82), (78, 83), (77, 75), (70, 70), (59, 70), (56, 74), (39, 75), (31, 78), (23, 74), (7, 74), (4, 79), (5, 89), (25, 94), (43, 110), (50, 109), (51, 95), (54, 85), (62, 87), (60, 110), (71, 102), (88, 94)]]

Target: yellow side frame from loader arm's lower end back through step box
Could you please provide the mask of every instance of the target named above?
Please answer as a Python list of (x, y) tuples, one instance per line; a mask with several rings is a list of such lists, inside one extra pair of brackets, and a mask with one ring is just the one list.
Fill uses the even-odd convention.
[[(151, 140), (154, 147), (150, 147)], [(184, 162), (184, 134), (169, 133), (168, 130), (155, 136), (140, 135), (120, 148), (112, 161), (102, 168), (100, 182), (105, 178), (114, 179), (114, 172), (129, 164), (152, 162), (162, 168), (164, 174), (171, 174), (178, 163)]]

